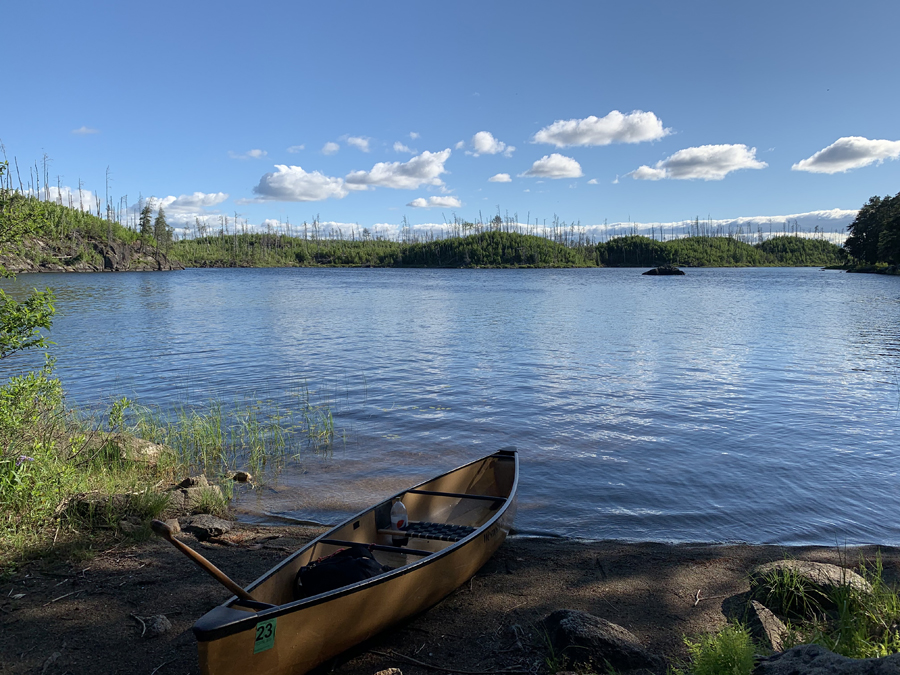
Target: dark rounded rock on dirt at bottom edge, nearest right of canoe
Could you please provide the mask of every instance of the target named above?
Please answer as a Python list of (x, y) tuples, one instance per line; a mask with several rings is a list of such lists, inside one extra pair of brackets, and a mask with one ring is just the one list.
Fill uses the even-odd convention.
[(554, 653), (571, 664), (617, 671), (659, 670), (664, 665), (632, 633), (587, 612), (559, 609), (546, 616), (543, 625)]

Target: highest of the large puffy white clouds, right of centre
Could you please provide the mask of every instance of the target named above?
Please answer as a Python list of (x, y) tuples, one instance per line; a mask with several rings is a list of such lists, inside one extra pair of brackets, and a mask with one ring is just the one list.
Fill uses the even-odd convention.
[(583, 120), (557, 120), (538, 131), (532, 143), (550, 143), (558, 148), (567, 145), (609, 145), (610, 143), (641, 143), (668, 136), (671, 129), (652, 112), (635, 110), (623, 115), (613, 110), (606, 117), (585, 117)]

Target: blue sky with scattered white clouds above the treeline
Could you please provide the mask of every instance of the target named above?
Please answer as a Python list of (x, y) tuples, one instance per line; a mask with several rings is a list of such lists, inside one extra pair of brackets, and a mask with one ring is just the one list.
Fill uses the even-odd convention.
[(0, 142), (14, 184), (46, 156), (77, 205), (108, 171), (184, 228), (838, 232), (900, 191), (897, 25), (895, 0), (8, 3)]

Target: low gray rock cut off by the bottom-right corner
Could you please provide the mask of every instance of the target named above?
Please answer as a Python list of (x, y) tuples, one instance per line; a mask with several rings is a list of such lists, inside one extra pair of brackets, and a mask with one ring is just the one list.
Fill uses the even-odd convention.
[(753, 675), (898, 675), (900, 654), (883, 659), (848, 659), (819, 645), (800, 645), (763, 659)]

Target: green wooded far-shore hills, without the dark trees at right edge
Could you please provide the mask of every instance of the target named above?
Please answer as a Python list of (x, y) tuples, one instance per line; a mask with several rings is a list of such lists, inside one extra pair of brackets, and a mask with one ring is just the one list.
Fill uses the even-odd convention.
[[(230, 231), (177, 240), (162, 209), (145, 206), (140, 227), (19, 193), (0, 199), (0, 219), (15, 236), (2, 262), (21, 272), (146, 271), (183, 267), (686, 267), (842, 266), (845, 249), (825, 239), (780, 235), (750, 244), (739, 236), (697, 234), (665, 241), (628, 235), (594, 241), (573, 226), (550, 236), (524, 234), (495, 219), (463, 223), (443, 238), (320, 236)], [(226, 223), (227, 224), (227, 223)], [(365, 231), (364, 231), (365, 232)]]

